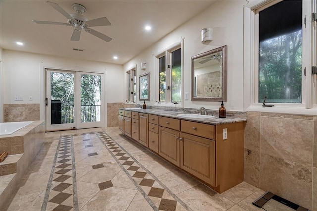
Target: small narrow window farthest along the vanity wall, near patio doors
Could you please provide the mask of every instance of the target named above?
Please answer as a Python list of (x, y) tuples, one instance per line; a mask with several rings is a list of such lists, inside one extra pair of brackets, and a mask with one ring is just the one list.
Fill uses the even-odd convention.
[(136, 101), (136, 68), (126, 72), (126, 102)]

